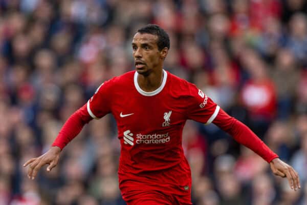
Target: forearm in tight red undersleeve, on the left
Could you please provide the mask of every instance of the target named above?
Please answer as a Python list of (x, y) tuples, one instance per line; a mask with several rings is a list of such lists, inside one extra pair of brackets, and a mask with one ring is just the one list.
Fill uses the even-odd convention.
[(52, 146), (59, 147), (62, 150), (81, 132), (83, 126), (91, 119), (92, 117), (87, 113), (86, 105), (84, 105), (68, 118)]

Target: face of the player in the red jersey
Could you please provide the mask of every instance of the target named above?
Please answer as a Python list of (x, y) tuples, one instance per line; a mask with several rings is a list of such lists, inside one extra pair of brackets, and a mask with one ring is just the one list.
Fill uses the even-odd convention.
[(158, 36), (136, 33), (132, 41), (133, 57), (139, 74), (148, 75), (155, 69), (162, 69), (167, 48), (159, 51)]

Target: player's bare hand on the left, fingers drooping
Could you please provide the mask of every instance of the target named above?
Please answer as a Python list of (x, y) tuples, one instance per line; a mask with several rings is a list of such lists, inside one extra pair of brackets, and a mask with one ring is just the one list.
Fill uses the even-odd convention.
[(44, 166), (44, 165), (49, 165), (47, 167), (47, 172), (50, 172), (52, 170), (52, 168), (54, 168), (59, 160), (60, 157), (60, 153), (61, 153), (61, 149), (59, 147), (51, 147), (48, 152), (46, 152), (45, 154), (36, 157), (36, 158), (32, 158), (29, 159), (25, 164), (24, 167), (29, 166), (28, 169), (28, 177), (29, 179), (34, 179), (38, 170)]

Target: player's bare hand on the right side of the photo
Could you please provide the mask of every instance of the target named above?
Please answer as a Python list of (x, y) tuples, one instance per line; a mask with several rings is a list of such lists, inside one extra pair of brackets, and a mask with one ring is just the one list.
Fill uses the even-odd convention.
[(288, 178), (291, 189), (294, 189), (294, 191), (296, 191), (296, 188), (300, 189), (298, 174), (290, 165), (279, 158), (275, 158), (270, 162), (270, 166), (276, 176)]

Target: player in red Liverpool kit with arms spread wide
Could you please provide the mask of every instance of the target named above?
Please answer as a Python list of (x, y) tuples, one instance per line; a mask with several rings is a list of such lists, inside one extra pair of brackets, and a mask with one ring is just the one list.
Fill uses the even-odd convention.
[(195, 85), (163, 69), (167, 33), (157, 25), (138, 30), (132, 42), (136, 71), (105, 81), (65, 122), (50, 150), (25, 163), (28, 177), (48, 164), (93, 118), (112, 113), (121, 143), (119, 188), (127, 204), (192, 204), (191, 172), (182, 148), (187, 119), (213, 122), (268, 163), (275, 175), (300, 188), (297, 172), (281, 161), (248, 127), (230, 117)]

